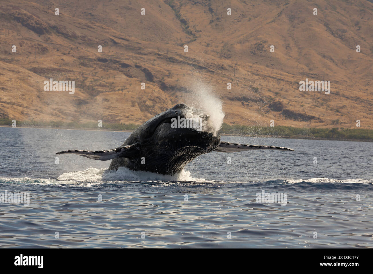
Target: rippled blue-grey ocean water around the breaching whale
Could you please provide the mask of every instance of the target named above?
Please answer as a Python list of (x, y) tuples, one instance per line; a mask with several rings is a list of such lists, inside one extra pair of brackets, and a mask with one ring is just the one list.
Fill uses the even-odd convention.
[(77, 155), (56, 164), (58, 151), (128, 136), (0, 127), (0, 192), (29, 193), (29, 205), (0, 203), (0, 247), (373, 247), (373, 143), (222, 136), (295, 151), (211, 152), (175, 176)]

